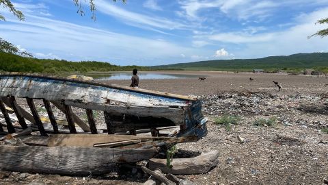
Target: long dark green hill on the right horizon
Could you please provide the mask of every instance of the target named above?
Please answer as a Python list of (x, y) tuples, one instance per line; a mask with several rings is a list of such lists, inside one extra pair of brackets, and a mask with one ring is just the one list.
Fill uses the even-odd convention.
[(252, 71), (253, 69), (277, 71), (319, 69), (328, 71), (328, 53), (298, 53), (290, 56), (270, 56), (257, 59), (207, 60), (200, 62), (152, 66), (152, 69), (204, 71)]

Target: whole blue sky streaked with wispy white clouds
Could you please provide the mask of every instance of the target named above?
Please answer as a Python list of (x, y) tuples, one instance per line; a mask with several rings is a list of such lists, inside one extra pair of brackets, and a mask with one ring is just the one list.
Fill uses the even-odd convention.
[(15, 0), (1, 8), (0, 37), (36, 58), (157, 65), (328, 52), (328, 0), (94, 0), (96, 21), (71, 0)]

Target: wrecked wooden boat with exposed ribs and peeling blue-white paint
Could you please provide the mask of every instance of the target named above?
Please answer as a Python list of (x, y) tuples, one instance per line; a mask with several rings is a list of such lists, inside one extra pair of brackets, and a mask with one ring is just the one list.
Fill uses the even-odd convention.
[[(35, 101), (44, 104), (51, 129), (44, 128)], [(0, 74), (0, 108), (0, 143), (22, 144), (0, 145), (0, 169), (8, 171), (107, 173), (207, 134), (194, 97), (79, 79)], [(59, 129), (54, 108), (65, 114), (68, 130)], [(85, 110), (87, 121), (72, 108)], [(94, 111), (104, 112), (105, 129), (97, 128)], [(161, 133), (167, 129), (172, 132)]]

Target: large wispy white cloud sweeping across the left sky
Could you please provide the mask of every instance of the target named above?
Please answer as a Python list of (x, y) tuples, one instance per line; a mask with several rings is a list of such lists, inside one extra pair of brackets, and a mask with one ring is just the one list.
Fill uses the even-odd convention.
[(191, 48), (163, 39), (129, 36), (31, 15), (27, 15), (26, 21), (8, 18), (0, 32), (5, 40), (28, 47), (29, 52), (40, 58), (89, 58), (124, 65), (137, 60), (150, 62), (154, 58), (178, 60), (181, 53), (195, 53)]

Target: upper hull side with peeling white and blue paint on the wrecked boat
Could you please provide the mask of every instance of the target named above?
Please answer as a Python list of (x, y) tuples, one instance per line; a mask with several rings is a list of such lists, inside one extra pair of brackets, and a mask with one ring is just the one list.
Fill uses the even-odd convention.
[[(42, 90), (40, 88), (42, 87)], [(24, 77), (0, 75), (0, 96), (30, 97), (49, 101), (65, 100), (66, 105), (103, 110), (116, 114), (134, 114), (138, 116), (165, 116), (176, 125), (182, 124), (182, 108), (190, 105), (190, 99), (171, 97), (167, 93), (157, 94), (85, 84), (76, 81), (52, 79), (49, 77)], [(194, 98), (192, 98), (195, 101)], [(110, 103), (109, 103), (110, 101)], [(118, 103), (118, 104), (116, 104)], [(174, 116), (173, 116), (174, 115)], [(77, 123), (78, 124), (78, 123)]]

